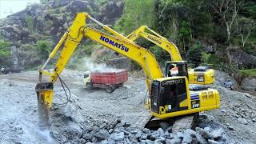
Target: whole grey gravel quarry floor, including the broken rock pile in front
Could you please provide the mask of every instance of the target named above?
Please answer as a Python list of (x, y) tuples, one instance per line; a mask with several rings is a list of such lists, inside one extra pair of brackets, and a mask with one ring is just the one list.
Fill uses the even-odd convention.
[[(0, 75), (0, 143), (255, 143), (255, 100), (237, 91), (218, 89), (220, 110), (200, 114), (194, 130), (171, 133), (162, 123), (158, 130), (134, 126), (136, 116), (146, 113), (143, 100), (146, 84), (130, 78), (113, 94), (105, 90), (85, 90), (82, 75), (72, 70), (62, 74), (70, 86), (66, 107), (53, 106), (50, 130), (39, 130), (34, 86), (37, 73)], [(23, 78), (23, 79), (21, 79)], [(35, 79), (32, 81), (31, 79)], [(54, 103), (65, 102), (56, 83)]]

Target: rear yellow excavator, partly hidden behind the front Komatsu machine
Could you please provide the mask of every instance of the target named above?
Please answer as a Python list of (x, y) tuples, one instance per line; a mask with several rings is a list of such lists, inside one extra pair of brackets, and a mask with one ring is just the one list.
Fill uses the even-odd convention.
[[(148, 33), (149, 31), (150, 33)], [(172, 76), (172, 68), (177, 67), (178, 76), (186, 76), (189, 78), (189, 82), (192, 84), (202, 84), (209, 85), (214, 83), (214, 70), (208, 69), (206, 66), (198, 66), (195, 69), (187, 69), (187, 62), (182, 60), (182, 56), (179, 53), (178, 47), (174, 45), (173, 42), (169, 42), (167, 38), (162, 37), (160, 34), (156, 33), (154, 30), (151, 30), (147, 26), (141, 26), (138, 30), (134, 30), (126, 38), (131, 41), (135, 41), (137, 38), (142, 37), (146, 38), (150, 42), (160, 46), (162, 49), (166, 50), (170, 54), (171, 61), (166, 62), (165, 66), (165, 75), (167, 77)]]

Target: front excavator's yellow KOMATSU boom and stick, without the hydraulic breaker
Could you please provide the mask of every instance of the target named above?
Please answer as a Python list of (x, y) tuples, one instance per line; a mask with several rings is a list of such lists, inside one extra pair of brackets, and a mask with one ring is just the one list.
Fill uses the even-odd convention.
[[(163, 77), (160, 66), (158, 66), (158, 62), (149, 50), (134, 44), (134, 42), (131, 42), (126, 37), (118, 34), (118, 32), (112, 30), (110, 27), (102, 25), (95, 19), (93, 20), (100, 23), (105, 30), (109, 31), (111, 34), (114, 34), (114, 36), (86, 26), (86, 18), (92, 19), (86, 13), (79, 13), (77, 15), (73, 25), (70, 26), (70, 29), (62, 36), (57, 46), (55, 46), (54, 50), (50, 54), (45, 65), (42, 66), (42, 70), (40, 70), (40, 72), (41, 74), (50, 75), (50, 82), (55, 82), (57, 80), (58, 75), (62, 73), (62, 70), (66, 67), (66, 63), (69, 61), (71, 55), (74, 53), (74, 50), (84, 37), (90, 38), (94, 42), (98, 42), (110, 50), (114, 50), (118, 54), (122, 54), (123, 56), (132, 59), (134, 62), (137, 62), (140, 66), (142, 66), (142, 69), (146, 74), (147, 84), (149, 84), (150, 79), (152, 80), (154, 78)], [(66, 42), (62, 48), (58, 61), (56, 62), (54, 71), (51, 74), (47, 73), (43, 69), (45, 68), (46, 64), (50, 62), (50, 59), (54, 58), (55, 54), (65, 40)]]

